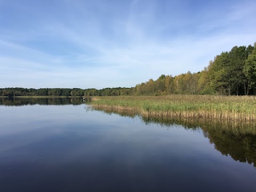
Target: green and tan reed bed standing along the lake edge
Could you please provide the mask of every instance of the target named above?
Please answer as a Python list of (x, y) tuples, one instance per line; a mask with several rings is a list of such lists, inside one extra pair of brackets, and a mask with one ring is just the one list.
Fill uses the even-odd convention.
[(255, 96), (168, 95), (94, 97), (93, 107), (133, 111), (144, 117), (256, 121)]

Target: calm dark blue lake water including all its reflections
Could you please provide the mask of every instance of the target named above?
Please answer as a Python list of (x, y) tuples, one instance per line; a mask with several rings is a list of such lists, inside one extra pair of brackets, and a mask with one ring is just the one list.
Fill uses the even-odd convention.
[(210, 126), (0, 99), (0, 191), (256, 191), (256, 134)]

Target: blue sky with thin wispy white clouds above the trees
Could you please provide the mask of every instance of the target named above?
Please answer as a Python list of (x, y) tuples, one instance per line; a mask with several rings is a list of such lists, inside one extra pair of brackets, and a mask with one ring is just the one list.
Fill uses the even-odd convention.
[(132, 87), (256, 42), (255, 0), (0, 0), (0, 87)]

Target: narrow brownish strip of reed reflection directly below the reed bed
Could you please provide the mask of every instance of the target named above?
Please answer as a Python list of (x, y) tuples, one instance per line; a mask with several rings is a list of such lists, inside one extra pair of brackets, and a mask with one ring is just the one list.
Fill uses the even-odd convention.
[(103, 111), (106, 114), (117, 114), (119, 116), (134, 118), (138, 116), (145, 123), (158, 123), (165, 126), (170, 126), (173, 124), (185, 125), (188, 128), (197, 129), (201, 127), (204, 130), (219, 130), (228, 131), (233, 134), (243, 133), (243, 134), (256, 134), (256, 123), (253, 121), (232, 121), (229, 119), (207, 119), (207, 118), (184, 118), (182, 116), (154, 116), (154, 115), (144, 115), (140, 114), (135, 110), (125, 110), (116, 107), (99, 107), (91, 106), (91, 110)]

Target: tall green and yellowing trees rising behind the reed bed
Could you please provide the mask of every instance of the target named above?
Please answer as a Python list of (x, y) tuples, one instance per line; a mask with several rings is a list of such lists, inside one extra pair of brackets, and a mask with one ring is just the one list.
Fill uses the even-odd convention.
[(217, 55), (209, 66), (198, 73), (172, 77), (161, 75), (156, 81), (135, 86), (137, 95), (162, 94), (256, 94), (256, 43), (254, 46), (234, 46)]

